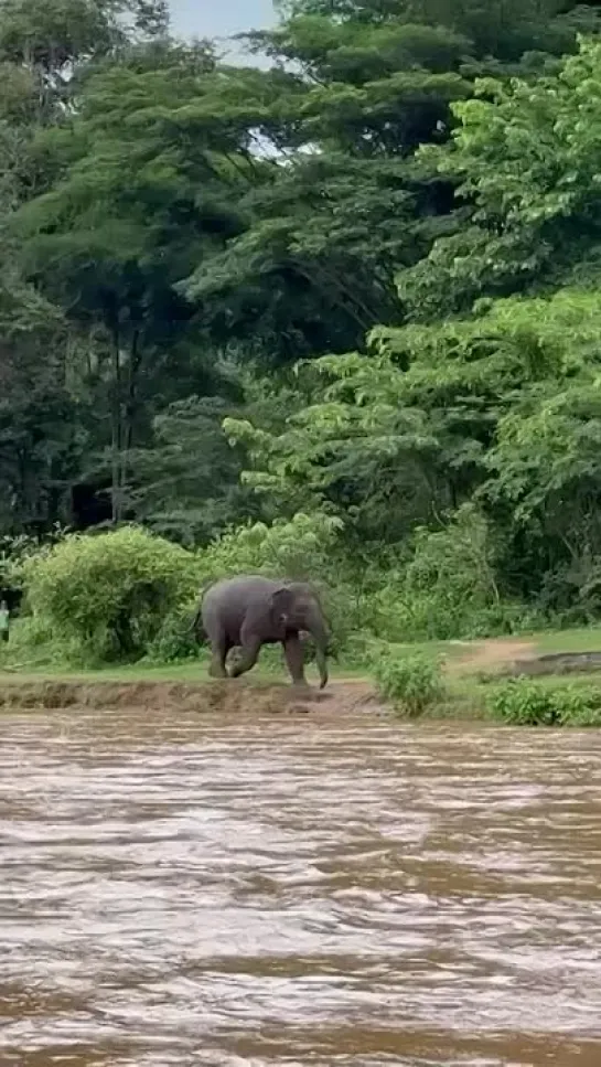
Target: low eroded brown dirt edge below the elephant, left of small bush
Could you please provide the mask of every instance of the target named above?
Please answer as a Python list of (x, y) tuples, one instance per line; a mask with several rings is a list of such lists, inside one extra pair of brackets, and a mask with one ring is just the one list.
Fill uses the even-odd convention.
[(366, 681), (331, 682), (324, 692), (307, 694), (290, 685), (251, 682), (63, 681), (2, 679), (1, 707), (146, 707), (236, 714), (282, 712), (303, 714), (314, 707), (333, 713), (383, 711)]

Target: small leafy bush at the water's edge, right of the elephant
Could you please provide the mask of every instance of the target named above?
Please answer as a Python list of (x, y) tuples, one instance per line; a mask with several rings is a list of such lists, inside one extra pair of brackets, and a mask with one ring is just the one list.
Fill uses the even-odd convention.
[(405, 715), (417, 717), (444, 695), (440, 663), (427, 655), (380, 651), (373, 663), (378, 692)]

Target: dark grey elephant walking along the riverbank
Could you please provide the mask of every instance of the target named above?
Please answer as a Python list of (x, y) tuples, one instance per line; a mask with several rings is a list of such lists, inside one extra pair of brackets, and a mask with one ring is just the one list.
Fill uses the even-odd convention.
[(205, 589), (196, 625), (201, 618), (211, 641), (210, 673), (214, 677), (227, 677), (225, 662), (232, 648), (242, 648), (230, 669), (230, 677), (238, 677), (255, 666), (261, 645), (281, 642), (292, 683), (307, 686), (299, 638), (299, 631), (305, 630), (316, 645), (320, 689), (328, 684), (330, 634), (316, 594), (307, 583), (261, 575), (224, 578)]

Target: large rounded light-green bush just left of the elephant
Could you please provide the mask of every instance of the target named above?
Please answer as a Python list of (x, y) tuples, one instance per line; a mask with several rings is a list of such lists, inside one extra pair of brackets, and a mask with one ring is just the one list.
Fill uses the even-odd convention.
[(191, 553), (136, 526), (69, 535), (23, 574), (40, 625), (95, 662), (140, 659), (198, 585)]

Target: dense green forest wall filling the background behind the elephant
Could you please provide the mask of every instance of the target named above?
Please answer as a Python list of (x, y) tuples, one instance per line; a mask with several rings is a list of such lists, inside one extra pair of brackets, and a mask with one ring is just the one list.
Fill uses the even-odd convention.
[[(344, 654), (599, 618), (600, 26), (292, 0), (253, 67), (164, 0), (0, 0), (0, 534), (309, 577)], [(69, 654), (193, 653), (127, 552), (71, 629), (24, 556)]]

